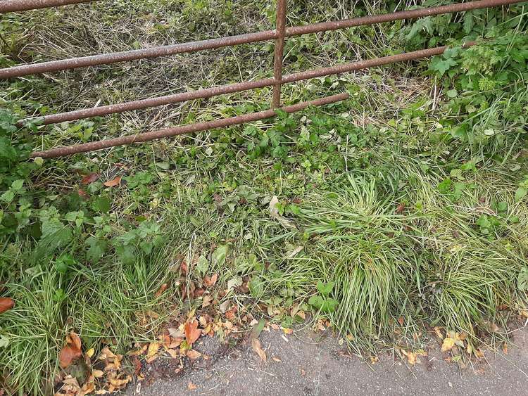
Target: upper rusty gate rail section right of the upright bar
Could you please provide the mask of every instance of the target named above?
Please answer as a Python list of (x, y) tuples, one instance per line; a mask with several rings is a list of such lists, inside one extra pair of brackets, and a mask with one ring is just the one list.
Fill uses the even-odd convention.
[(522, 3), (526, 0), (480, 0), (468, 1), (467, 3), (449, 4), (431, 8), (420, 8), (410, 11), (398, 11), (381, 15), (370, 15), (347, 20), (336, 20), (333, 22), (315, 23), (313, 25), (288, 27), (287, 37), (298, 36), (300, 34), (325, 32), (327, 30), (344, 29), (346, 27), (374, 25), (375, 23), (393, 22), (395, 20), (415, 19), (432, 15), (457, 13), (463, 11), (477, 10), (479, 8), (489, 8), (498, 6), (508, 6), (510, 4)]

